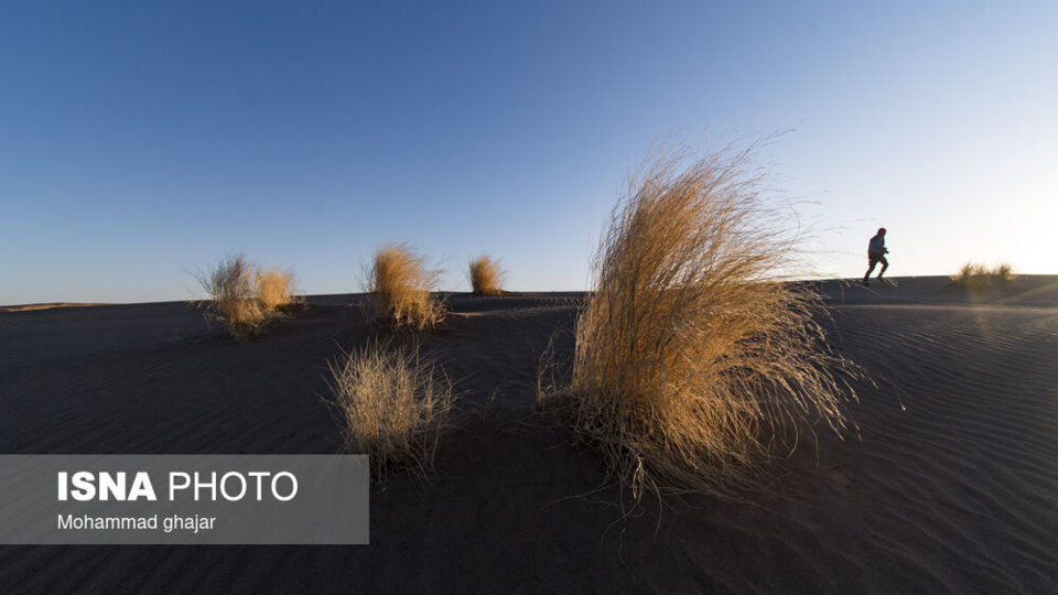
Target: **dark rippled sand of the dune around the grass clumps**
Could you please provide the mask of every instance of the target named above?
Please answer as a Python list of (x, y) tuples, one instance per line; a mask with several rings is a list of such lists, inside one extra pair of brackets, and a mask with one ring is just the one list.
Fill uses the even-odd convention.
[[(822, 284), (877, 381), (849, 408), (862, 439), (802, 435), (751, 502), (619, 521), (598, 462), (533, 413), (580, 295), (453, 294), (423, 343), (461, 387), (442, 472), (373, 494), (370, 545), (4, 547), (0, 589), (1055, 592), (1058, 278), (897, 282)], [(0, 313), (0, 452), (335, 452), (325, 366), (366, 340), (360, 301), (247, 344), (184, 303)]]

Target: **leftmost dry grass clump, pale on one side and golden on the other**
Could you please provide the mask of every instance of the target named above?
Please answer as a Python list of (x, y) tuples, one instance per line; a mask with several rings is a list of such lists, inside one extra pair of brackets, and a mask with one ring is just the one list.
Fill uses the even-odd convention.
[(258, 270), (244, 255), (223, 259), (198, 282), (209, 295), (207, 309), (237, 339), (256, 334), (271, 316), (293, 303), (293, 275)]

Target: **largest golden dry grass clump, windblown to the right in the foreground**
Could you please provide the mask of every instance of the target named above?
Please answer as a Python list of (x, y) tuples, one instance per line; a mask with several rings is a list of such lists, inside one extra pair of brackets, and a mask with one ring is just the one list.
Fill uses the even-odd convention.
[(751, 156), (644, 163), (596, 252), (572, 383), (544, 390), (637, 499), (752, 483), (787, 421), (845, 428), (834, 370), (849, 365), (817, 295), (776, 279), (792, 236)]

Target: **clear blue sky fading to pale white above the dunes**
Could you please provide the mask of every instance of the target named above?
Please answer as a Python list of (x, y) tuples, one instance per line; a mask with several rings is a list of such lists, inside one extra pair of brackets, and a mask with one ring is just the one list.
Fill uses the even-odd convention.
[[(795, 6), (798, 4), (798, 6)], [(659, 133), (794, 129), (812, 272), (1055, 273), (1058, 2), (0, 4), (0, 303), (197, 296), (228, 252), (356, 291), (409, 241), (575, 290)]]

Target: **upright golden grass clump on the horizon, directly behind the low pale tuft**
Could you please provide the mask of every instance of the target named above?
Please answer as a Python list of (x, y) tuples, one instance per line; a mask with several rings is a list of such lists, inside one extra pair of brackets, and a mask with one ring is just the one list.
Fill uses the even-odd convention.
[(439, 271), (407, 245), (389, 245), (375, 252), (367, 291), (373, 295), (375, 317), (402, 328), (423, 331), (444, 320), (444, 304), (432, 292)]

